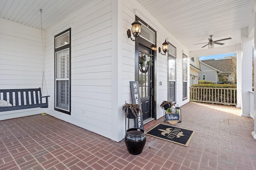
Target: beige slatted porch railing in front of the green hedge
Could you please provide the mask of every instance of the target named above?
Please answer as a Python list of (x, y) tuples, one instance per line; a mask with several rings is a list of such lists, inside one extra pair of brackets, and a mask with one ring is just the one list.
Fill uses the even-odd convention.
[(236, 88), (190, 87), (190, 101), (236, 105)]

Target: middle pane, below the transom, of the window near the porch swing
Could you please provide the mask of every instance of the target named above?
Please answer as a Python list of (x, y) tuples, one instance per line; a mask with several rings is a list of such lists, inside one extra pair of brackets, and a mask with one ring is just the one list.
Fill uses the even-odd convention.
[(69, 50), (56, 53), (56, 78), (69, 78)]

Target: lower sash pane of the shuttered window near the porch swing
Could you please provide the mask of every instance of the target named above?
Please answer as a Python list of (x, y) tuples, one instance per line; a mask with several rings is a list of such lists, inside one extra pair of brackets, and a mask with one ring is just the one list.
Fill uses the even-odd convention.
[(57, 102), (56, 107), (68, 110), (69, 108), (69, 81), (68, 80), (57, 80)]

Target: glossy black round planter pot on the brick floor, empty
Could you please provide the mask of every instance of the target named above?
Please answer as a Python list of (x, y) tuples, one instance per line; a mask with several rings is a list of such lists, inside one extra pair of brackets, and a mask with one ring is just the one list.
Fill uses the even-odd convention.
[(141, 154), (146, 144), (146, 133), (140, 128), (127, 129), (125, 132), (124, 141), (130, 154)]

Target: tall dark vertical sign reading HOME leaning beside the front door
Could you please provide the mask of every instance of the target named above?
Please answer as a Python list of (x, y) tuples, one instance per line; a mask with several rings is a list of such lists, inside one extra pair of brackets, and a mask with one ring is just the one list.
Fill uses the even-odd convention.
[[(132, 92), (132, 103), (140, 105), (140, 109), (141, 109), (139, 83), (130, 81), (130, 85), (131, 85), (131, 92)], [(144, 129), (143, 117), (140, 112), (138, 114), (138, 117), (136, 119), (134, 119), (134, 127)]]

